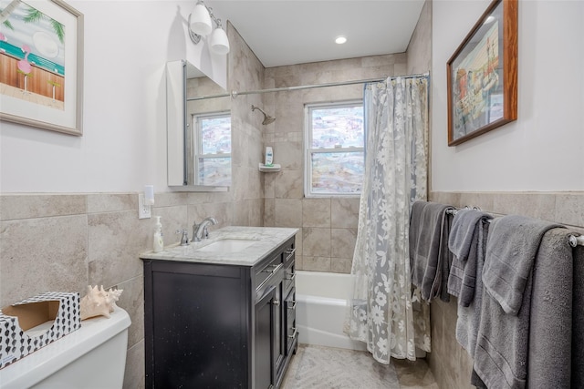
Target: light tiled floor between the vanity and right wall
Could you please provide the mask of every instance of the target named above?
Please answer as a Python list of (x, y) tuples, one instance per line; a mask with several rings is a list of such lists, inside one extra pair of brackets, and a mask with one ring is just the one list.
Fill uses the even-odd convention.
[(438, 389), (428, 364), (391, 360), (377, 363), (368, 352), (298, 345), (282, 389)]

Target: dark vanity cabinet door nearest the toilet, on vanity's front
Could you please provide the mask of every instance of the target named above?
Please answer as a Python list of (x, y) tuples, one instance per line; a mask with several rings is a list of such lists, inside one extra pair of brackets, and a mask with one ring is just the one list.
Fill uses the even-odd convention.
[(279, 309), (276, 286), (255, 304), (255, 389), (268, 389), (275, 383), (273, 360), (275, 356), (274, 333)]

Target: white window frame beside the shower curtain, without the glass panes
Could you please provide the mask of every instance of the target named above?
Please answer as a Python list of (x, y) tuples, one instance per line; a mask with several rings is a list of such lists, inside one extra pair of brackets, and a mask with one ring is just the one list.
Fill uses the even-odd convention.
[[(354, 107), (359, 105), (363, 107), (363, 147), (348, 147), (348, 148), (311, 148), (312, 145), (312, 110), (322, 109), (327, 107)], [(330, 101), (327, 103), (308, 103), (304, 106), (304, 197), (305, 198), (359, 198), (359, 193), (313, 193), (312, 192), (312, 153), (334, 153), (334, 152), (362, 152), (363, 165), (365, 164), (365, 143), (367, 134), (365, 132), (365, 105), (362, 99), (350, 99)], [(362, 189), (362, 187), (361, 187)]]

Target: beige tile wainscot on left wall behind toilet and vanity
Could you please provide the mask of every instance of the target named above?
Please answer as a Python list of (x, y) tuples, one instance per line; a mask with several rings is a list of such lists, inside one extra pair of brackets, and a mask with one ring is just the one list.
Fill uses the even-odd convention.
[[(214, 215), (220, 228), (258, 225), (255, 201), (223, 193), (156, 193), (164, 241), (174, 231)], [(261, 200), (258, 200), (261, 203)], [(215, 228), (215, 227), (213, 227)], [(211, 233), (213, 233), (213, 228)], [(118, 305), (130, 313), (124, 388), (144, 385), (141, 251), (151, 249), (154, 219), (138, 219), (138, 193), (3, 194), (0, 196), (0, 307), (41, 292), (79, 292), (88, 285), (123, 289)]]

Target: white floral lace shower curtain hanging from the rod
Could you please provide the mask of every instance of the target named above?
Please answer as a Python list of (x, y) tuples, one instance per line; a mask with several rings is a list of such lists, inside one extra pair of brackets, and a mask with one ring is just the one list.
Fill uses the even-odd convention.
[(427, 195), (428, 77), (393, 77), (364, 89), (365, 178), (345, 331), (380, 363), (430, 352), (429, 307), (412, 292), (408, 232)]

